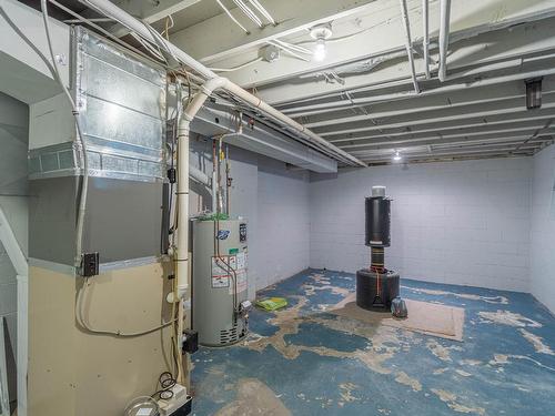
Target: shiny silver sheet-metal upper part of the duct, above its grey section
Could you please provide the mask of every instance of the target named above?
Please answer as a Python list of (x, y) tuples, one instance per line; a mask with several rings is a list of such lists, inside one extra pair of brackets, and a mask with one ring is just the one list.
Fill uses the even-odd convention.
[[(70, 53), (71, 90), (87, 142), (89, 174), (161, 180), (165, 71), (80, 27), (73, 29)], [(62, 105), (56, 98), (34, 105), (30, 179), (80, 173), (71, 111)], [(71, 131), (60, 131), (60, 124)]]

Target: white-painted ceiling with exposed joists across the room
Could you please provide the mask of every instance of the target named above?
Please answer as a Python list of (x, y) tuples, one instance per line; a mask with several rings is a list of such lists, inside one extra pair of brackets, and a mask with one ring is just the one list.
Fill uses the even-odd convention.
[[(122, 0), (222, 75), (370, 163), (528, 155), (554, 139), (555, 2), (452, 0), (447, 78), (437, 79), (440, 0), (428, 0), (432, 77), (423, 60), (423, 0), (406, 0), (420, 93), (400, 0), (260, 0), (278, 21), (258, 28), (233, 0)], [(248, 0), (245, 3), (250, 4)], [(168, 21), (169, 22), (169, 21)], [(258, 59), (275, 40), (313, 49), (309, 28), (330, 22), (326, 59)], [(114, 27), (113, 30), (118, 28)], [(121, 33), (120, 33), (121, 34)], [(252, 63), (250, 63), (252, 62)], [(524, 79), (543, 75), (543, 106), (526, 110)]]

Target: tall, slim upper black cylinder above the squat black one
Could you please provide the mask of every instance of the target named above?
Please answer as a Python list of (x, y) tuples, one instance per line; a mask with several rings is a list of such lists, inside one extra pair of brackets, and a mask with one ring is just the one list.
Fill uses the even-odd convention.
[(365, 243), (372, 247), (389, 247), (391, 224), (391, 200), (383, 196), (366, 197)]

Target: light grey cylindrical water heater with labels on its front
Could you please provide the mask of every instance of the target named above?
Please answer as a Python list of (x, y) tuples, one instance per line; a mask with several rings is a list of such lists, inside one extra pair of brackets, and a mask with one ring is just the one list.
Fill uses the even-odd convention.
[(193, 328), (199, 343), (225, 346), (248, 333), (245, 220), (193, 221)]

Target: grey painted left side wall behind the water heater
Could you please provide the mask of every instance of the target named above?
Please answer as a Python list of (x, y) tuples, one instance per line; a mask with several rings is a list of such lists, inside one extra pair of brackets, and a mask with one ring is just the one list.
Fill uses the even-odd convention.
[[(211, 175), (212, 144), (191, 142), (191, 164)], [(309, 174), (285, 163), (230, 146), (231, 214), (249, 222), (249, 297), (309, 267)], [(211, 209), (211, 196), (191, 182), (191, 214)]]

